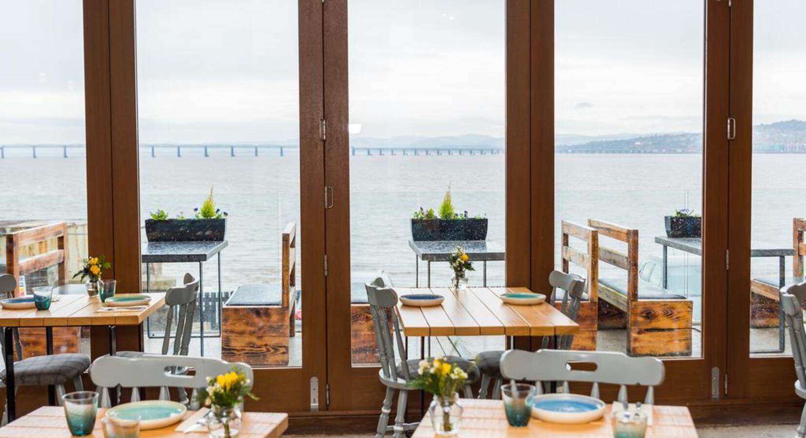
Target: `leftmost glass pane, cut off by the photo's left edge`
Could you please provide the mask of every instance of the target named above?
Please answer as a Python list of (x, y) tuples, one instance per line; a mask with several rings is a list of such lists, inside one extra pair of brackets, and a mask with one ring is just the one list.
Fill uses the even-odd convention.
[[(37, 286), (86, 294), (72, 279), (88, 255), (81, 8), (80, 0), (0, 2), (0, 244), (39, 226), (61, 233), (0, 251), (0, 271), (18, 276), (17, 295)], [(62, 248), (64, 264), (24, 269), (26, 259)], [(44, 328), (19, 332), (23, 357), (45, 353)], [(55, 353), (89, 354), (89, 331), (56, 328), (53, 337)]]

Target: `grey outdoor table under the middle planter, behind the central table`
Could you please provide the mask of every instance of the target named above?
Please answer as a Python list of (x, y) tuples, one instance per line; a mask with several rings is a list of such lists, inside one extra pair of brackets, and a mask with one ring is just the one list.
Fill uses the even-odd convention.
[(431, 262), (449, 262), (456, 246), (461, 246), (472, 262), (482, 262), (484, 273), (482, 286), (487, 286), (487, 262), (503, 261), (505, 252), (495, 243), (486, 240), (410, 240), (409, 248), (414, 251), (414, 277), (416, 287), (420, 287), (420, 260), (428, 263), (428, 283), (431, 287)]

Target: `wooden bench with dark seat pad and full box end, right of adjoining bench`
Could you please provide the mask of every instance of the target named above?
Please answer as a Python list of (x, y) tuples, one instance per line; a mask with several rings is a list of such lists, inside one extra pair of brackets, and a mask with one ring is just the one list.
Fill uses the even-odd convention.
[[(638, 229), (588, 219), (600, 236), (627, 245), (627, 254), (599, 246), (599, 260), (626, 277), (599, 273), (600, 322), (613, 308), (624, 318), (627, 353), (633, 356), (688, 356), (692, 353), (692, 300), (638, 278)], [(600, 325), (601, 328), (601, 325)]]

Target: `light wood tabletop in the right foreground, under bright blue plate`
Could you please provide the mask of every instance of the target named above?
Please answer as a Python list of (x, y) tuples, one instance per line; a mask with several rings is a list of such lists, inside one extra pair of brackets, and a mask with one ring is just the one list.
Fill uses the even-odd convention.
[[(554, 424), (531, 419), (526, 428), (510, 427), (501, 400), (461, 399), (464, 407), (459, 436), (543, 436), (546, 438), (613, 438), (610, 428), (610, 406), (605, 415), (586, 424)], [(653, 425), (646, 427), (646, 438), (696, 438), (694, 420), (684, 406), (654, 406)], [(2, 429), (0, 429), (2, 430)], [(434, 436), (428, 414), (414, 431), (415, 437)]]

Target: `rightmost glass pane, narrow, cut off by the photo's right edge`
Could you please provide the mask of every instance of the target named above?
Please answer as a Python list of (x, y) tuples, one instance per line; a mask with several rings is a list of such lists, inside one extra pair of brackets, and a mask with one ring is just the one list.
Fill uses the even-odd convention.
[[(753, 189), (750, 353), (791, 353), (779, 313), (780, 287), (803, 281), (806, 209), (797, 200), (806, 151), (806, 30), (796, 0), (756, 2), (753, 53)], [(793, 235), (796, 239), (793, 239)], [(795, 244), (793, 245), (793, 242)], [(793, 259), (800, 260), (800, 269)]]

